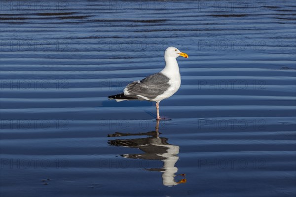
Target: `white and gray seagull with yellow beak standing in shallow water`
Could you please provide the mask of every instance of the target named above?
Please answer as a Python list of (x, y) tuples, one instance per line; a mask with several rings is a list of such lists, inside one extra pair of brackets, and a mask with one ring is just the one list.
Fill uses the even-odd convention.
[(168, 47), (164, 52), (165, 67), (158, 73), (152, 74), (142, 80), (128, 84), (123, 93), (109, 96), (117, 102), (123, 100), (148, 100), (156, 102), (157, 120), (159, 116), (159, 102), (174, 95), (181, 86), (181, 75), (176, 58), (188, 55), (176, 47)]

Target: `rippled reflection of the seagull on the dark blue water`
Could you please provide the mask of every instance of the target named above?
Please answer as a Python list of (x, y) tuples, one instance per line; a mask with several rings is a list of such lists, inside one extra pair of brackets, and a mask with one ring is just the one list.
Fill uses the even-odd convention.
[[(161, 160), (163, 161), (163, 168), (161, 169), (150, 169), (151, 171), (161, 171), (162, 181), (165, 186), (174, 186), (180, 183), (185, 183), (186, 179), (176, 182), (174, 177), (175, 173), (178, 172), (178, 168), (175, 167), (176, 162), (179, 160), (179, 146), (171, 145), (167, 143), (167, 138), (159, 137), (158, 132), (159, 121), (156, 122), (156, 131), (150, 131), (146, 133), (120, 133), (115, 132), (114, 134), (109, 134), (109, 137), (117, 136), (130, 136), (130, 135), (150, 135), (146, 138), (137, 139), (115, 139), (109, 140), (109, 144), (113, 146), (125, 146), (131, 148), (139, 148), (145, 153), (143, 154), (125, 154), (122, 157), (132, 158), (132, 159), (144, 159), (144, 160)], [(185, 175), (183, 175), (185, 176)]]

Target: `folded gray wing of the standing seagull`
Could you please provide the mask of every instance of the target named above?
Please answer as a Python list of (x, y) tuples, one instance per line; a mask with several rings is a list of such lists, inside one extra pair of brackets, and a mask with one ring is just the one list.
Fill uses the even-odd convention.
[(170, 87), (168, 84), (169, 80), (168, 77), (159, 72), (150, 75), (141, 81), (135, 81), (128, 84), (124, 93), (127, 95), (141, 95), (148, 99), (155, 99)]

